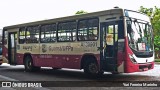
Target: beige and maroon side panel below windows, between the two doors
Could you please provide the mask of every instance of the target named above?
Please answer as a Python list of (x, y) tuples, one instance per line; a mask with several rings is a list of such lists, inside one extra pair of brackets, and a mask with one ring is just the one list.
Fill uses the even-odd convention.
[[(88, 47), (91, 46), (91, 47)], [(23, 64), (25, 53), (30, 53), (35, 66), (61, 67), (80, 69), (83, 54), (95, 55), (99, 60), (97, 41), (75, 42), (75, 43), (50, 43), (50, 44), (21, 44), (18, 45), (19, 57), (17, 64)], [(86, 47), (86, 48), (82, 48)], [(38, 50), (39, 48), (39, 50)], [(94, 53), (92, 53), (94, 52)], [(23, 54), (21, 54), (23, 53)]]

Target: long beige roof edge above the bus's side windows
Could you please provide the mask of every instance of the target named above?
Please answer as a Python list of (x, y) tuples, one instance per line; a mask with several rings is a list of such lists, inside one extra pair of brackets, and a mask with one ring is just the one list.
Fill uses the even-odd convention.
[(26, 27), (26, 26), (35, 26), (35, 25), (50, 24), (50, 23), (57, 23), (57, 22), (64, 22), (64, 21), (72, 21), (76, 19), (93, 18), (93, 17), (103, 16), (103, 15), (122, 14), (122, 10), (123, 9), (121, 8), (114, 8), (114, 9), (86, 13), (81, 15), (73, 15), (73, 16), (66, 16), (66, 17), (60, 17), (60, 18), (54, 18), (54, 19), (48, 19), (48, 20), (11, 25), (11, 26), (6, 26), (3, 29), (12, 29), (12, 28), (20, 28), (20, 27)]

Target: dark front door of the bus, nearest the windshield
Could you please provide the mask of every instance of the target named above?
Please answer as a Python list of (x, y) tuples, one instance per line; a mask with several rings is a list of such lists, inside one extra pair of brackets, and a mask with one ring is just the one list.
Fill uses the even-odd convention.
[(118, 24), (116, 21), (103, 22), (100, 29), (101, 69), (117, 72)]

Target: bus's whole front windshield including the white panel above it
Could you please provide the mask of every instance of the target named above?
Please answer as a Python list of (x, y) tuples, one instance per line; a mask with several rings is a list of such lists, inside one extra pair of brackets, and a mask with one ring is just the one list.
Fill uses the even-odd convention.
[(153, 32), (150, 19), (144, 14), (125, 11), (128, 43), (134, 51), (153, 51)]

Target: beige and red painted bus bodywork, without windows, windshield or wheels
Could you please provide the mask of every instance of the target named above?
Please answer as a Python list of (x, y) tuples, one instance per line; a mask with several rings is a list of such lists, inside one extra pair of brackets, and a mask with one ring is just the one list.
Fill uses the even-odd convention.
[[(154, 55), (153, 57), (150, 57), (150, 58), (143, 58), (143, 59), (136, 58), (132, 50), (129, 48), (128, 38), (127, 38), (127, 24), (126, 24), (126, 19), (123, 17), (124, 17), (123, 9), (111, 9), (111, 10), (89, 13), (84, 15), (75, 15), (75, 16), (43, 20), (43, 21), (4, 27), (3, 61), (8, 63), (12, 61), (8, 59), (8, 55), (9, 55), (8, 53), (10, 53), (9, 48), (11, 48), (11, 46), (8, 45), (9, 44), (8, 42), (12, 43), (11, 36), (14, 36), (15, 38), (14, 43), (16, 45), (16, 47), (14, 47), (15, 48), (14, 50), (16, 53), (14, 54), (15, 60), (13, 60), (14, 63), (12, 64), (16, 64), (16, 65), (23, 65), (26, 55), (30, 55), (33, 60), (34, 66), (83, 69), (83, 65), (82, 65), (83, 64), (82, 61), (84, 59), (83, 57), (92, 56), (92, 57), (95, 57), (99, 69), (102, 69), (103, 71), (131, 73), (131, 72), (140, 72), (148, 69), (153, 69)], [(57, 29), (60, 23), (76, 21), (76, 30), (78, 30), (78, 25), (80, 21), (88, 20), (92, 18), (98, 18), (98, 27), (97, 27), (98, 37), (96, 40), (80, 41), (78, 40), (78, 34), (77, 34), (78, 31), (76, 31), (76, 40), (72, 42), (61, 42), (61, 41), (58, 41), (58, 39), (56, 39), (55, 42), (49, 42), (49, 43), (48, 42), (42, 43), (40, 41), (41, 40), (40, 38), (42, 35), (42, 33), (40, 33), (42, 25), (54, 23), (56, 25), (56, 38), (58, 38)], [(107, 60), (109, 60), (110, 58), (106, 59), (106, 57), (104, 57), (106, 56), (104, 55), (106, 54), (104, 53), (105, 52), (104, 48), (106, 47), (103, 41), (104, 37), (102, 36), (104, 34), (104, 32), (102, 32), (103, 30), (102, 28), (105, 28), (105, 30), (108, 30), (106, 28), (109, 28), (109, 25), (112, 25), (112, 24), (114, 26), (114, 30), (116, 29), (115, 28), (116, 26), (118, 26), (118, 28), (120, 26), (121, 28), (120, 30), (118, 30), (118, 33), (117, 31), (114, 31), (114, 34), (115, 33), (118, 34), (117, 36), (114, 35), (114, 40), (115, 40), (114, 44), (117, 45), (117, 46), (114, 46), (115, 47), (114, 49), (117, 51), (114, 51), (116, 52), (116, 54), (115, 54), (115, 57), (112, 57), (116, 62), (114, 63), (114, 66), (116, 67), (115, 70), (108, 69), (108, 67), (113, 68), (114, 66), (111, 64), (110, 64), (111, 66), (109, 66), (108, 64), (109, 61)], [(33, 26), (38, 26), (40, 28), (38, 42), (37, 43), (27, 43), (27, 42), (20, 43), (20, 40), (19, 40), (20, 28), (23, 27), (26, 30), (26, 28), (33, 27)], [(122, 31), (123, 31), (123, 34), (121, 33), (123, 35), (122, 38), (118, 38), (119, 32), (122, 32)], [(7, 32), (7, 34), (5, 34), (5, 32)], [(82, 32), (79, 31), (79, 33), (82, 33)], [(92, 31), (92, 33), (94, 32)], [(83, 34), (85, 33), (83, 32)], [(10, 41), (8, 41), (9, 39), (6, 39), (8, 35), (10, 36)], [(28, 31), (26, 31), (25, 35), (28, 35)], [(63, 36), (63, 33), (62, 33), (62, 36)], [(27, 39), (26, 37), (25, 39)], [(117, 39), (115, 39), (115, 37)], [(5, 41), (5, 39), (7, 41)], [(7, 42), (7, 44), (5, 44), (5, 42)], [(109, 52), (113, 52), (113, 51), (110, 50)], [(133, 55), (138, 63), (136, 64), (133, 63), (128, 54)], [(101, 61), (104, 61), (103, 65)]]

